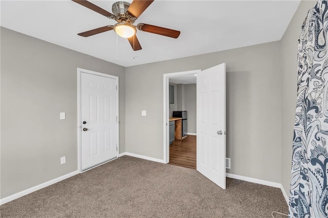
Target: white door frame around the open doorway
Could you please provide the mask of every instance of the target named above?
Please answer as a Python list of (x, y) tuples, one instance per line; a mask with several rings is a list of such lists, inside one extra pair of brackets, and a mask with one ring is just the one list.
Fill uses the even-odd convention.
[[(201, 70), (183, 71), (176, 73), (163, 74), (163, 161), (169, 163), (170, 161), (170, 139), (169, 139), (169, 78), (176, 76), (194, 75)], [(196, 99), (197, 101), (197, 99)], [(197, 135), (197, 133), (196, 133)], [(197, 150), (196, 150), (197, 152)]]

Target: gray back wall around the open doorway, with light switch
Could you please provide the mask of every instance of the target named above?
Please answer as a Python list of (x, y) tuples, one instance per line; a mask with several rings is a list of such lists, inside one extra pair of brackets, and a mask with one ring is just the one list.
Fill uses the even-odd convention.
[(228, 172), (280, 183), (280, 55), (278, 41), (126, 68), (126, 151), (163, 159), (164, 73), (226, 62)]

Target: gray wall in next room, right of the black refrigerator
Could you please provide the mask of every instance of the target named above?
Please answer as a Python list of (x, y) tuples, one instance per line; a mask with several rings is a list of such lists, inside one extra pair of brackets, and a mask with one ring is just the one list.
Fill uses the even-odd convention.
[(185, 84), (185, 111), (187, 111), (187, 132), (196, 133), (196, 84)]

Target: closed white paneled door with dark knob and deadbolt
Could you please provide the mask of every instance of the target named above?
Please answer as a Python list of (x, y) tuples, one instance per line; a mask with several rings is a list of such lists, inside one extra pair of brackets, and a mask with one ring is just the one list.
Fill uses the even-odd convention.
[(117, 79), (81, 72), (81, 169), (117, 157)]

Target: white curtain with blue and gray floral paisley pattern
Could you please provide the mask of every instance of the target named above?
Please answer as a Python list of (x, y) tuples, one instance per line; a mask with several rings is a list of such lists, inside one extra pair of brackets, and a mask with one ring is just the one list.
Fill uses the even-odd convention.
[(289, 217), (328, 217), (327, 9), (318, 1), (299, 37)]

